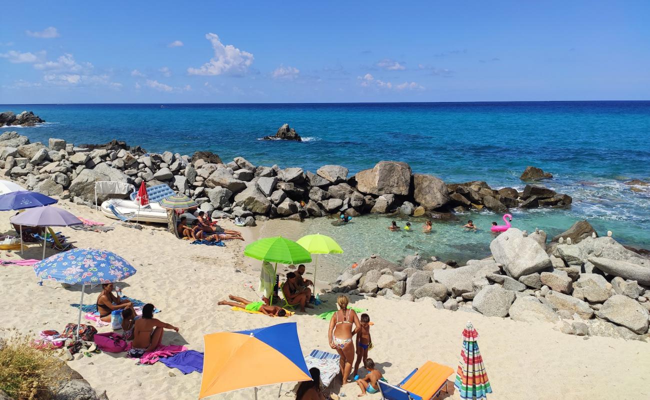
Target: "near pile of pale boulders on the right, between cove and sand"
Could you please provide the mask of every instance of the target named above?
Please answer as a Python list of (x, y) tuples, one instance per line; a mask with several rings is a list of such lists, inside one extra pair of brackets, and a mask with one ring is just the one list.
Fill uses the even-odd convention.
[(492, 255), (452, 267), (408, 256), (372, 256), (348, 268), (332, 291), (428, 302), (451, 311), (552, 323), (561, 332), (650, 341), (650, 258), (586, 221), (548, 243), (542, 230), (495, 238)]

